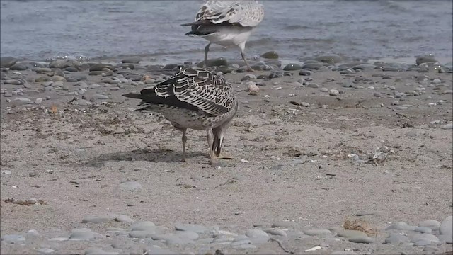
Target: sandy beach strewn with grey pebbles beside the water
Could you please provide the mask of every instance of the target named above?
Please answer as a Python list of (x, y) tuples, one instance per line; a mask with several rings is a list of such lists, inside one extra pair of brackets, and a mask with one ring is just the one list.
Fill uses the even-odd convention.
[(181, 162), (181, 133), (121, 96), (176, 64), (2, 57), (0, 253), (453, 250), (452, 67), (211, 63), (239, 98), (214, 165), (205, 132)]

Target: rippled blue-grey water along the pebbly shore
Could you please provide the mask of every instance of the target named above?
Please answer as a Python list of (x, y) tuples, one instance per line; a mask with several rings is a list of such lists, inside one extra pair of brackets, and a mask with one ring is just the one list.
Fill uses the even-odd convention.
[[(202, 1), (1, 1), (1, 56), (142, 55), (151, 62), (198, 61), (207, 44), (189, 38)], [(452, 1), (262, 1), (265, 18), (248, 57), (275, 50), (285, 60), (336, 53), (355, 58), (452, 58)], [(240, 59), (213, 45), (210, 57)]]

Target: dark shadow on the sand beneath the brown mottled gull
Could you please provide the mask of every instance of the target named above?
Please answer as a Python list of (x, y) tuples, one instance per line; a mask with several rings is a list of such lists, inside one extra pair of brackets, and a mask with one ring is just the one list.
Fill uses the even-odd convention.
[[(206, 157), (202, 152), (185, 152), (185, 158), (190, 161), (194, 157)], [(207, 157), (206, 157), (207, 158)], [(113, 152), (101, 154), (98, 157), (82, 163), (84, 166), (102, 166), (104, 162), (118, 161), (147, 161), (147, 162), (182, 162), (183, 152), (170, 149), (134, 149), (129, 152)], [(202, 160), (205, 161), (205, 160)], [(206, 161), (207, 162), (207, 161)]]

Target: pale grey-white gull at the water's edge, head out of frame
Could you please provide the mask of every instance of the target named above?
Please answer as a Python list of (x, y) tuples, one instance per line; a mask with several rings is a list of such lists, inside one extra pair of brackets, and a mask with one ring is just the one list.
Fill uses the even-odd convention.
[(245, 56), (246, 41), (263, 18), (263, 5), (256, 0), (210, 0), (201, 6), (195, 16), (195, 22), (181, 26), (192, 26), (192, 30), (185, 35), (200, 36), (210, 41), (205, 47), (205, 66), (211, 43), (222, 46), (236, 45), (241, 49), (241, 57), (247, 68), (253, 72)]

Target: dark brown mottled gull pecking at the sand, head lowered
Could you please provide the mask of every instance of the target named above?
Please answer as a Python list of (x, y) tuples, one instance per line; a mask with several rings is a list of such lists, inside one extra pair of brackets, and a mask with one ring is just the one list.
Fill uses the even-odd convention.
[(185, 161), (185, 131), (206, 130), (210, 163), (221, 156), (222, 143), (238, 102), (234, 89), (224, 77), (200, 67), (182, 67), (166, 81), (139, 93), (125, 94), (142, 101), (135, 111), (161, 113), (173, 127), (183, 132), (183, 161)]

